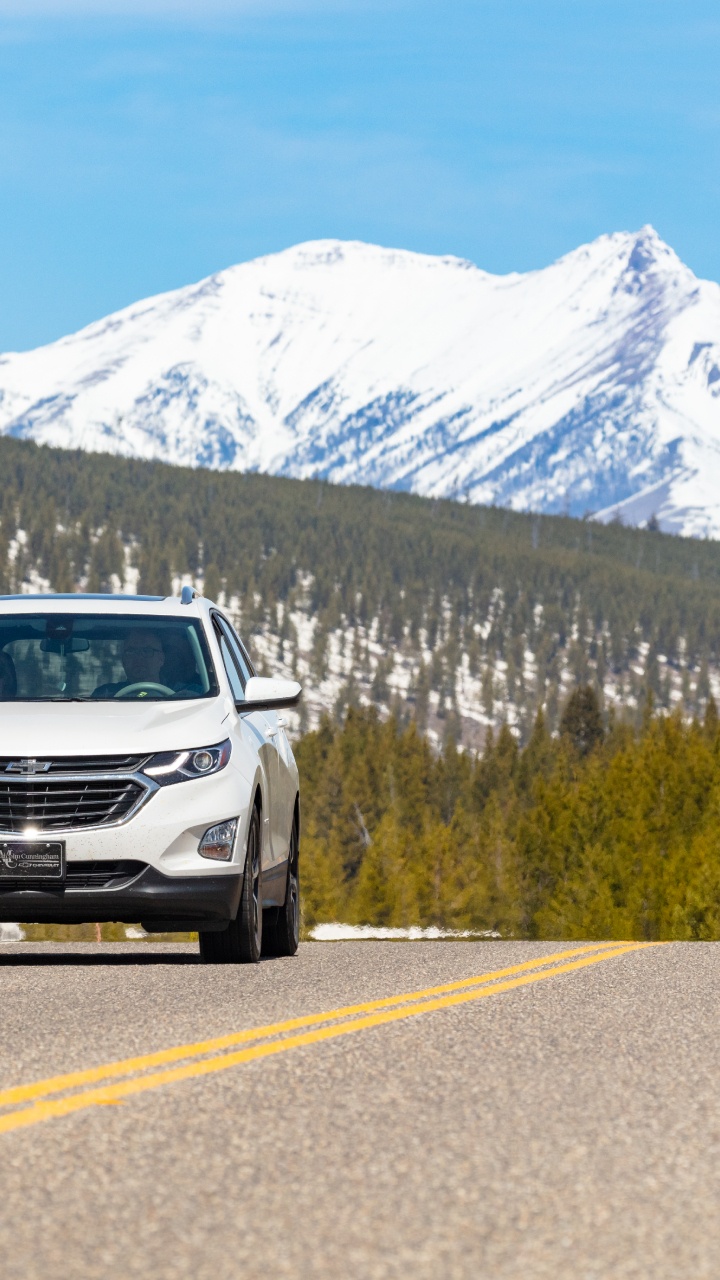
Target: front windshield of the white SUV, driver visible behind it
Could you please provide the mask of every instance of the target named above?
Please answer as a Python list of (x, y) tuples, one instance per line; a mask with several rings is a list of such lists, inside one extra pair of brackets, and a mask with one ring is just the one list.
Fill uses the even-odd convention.
[(0, 701), (167, 701), (217, 692), (195, 620), (0, 613)]

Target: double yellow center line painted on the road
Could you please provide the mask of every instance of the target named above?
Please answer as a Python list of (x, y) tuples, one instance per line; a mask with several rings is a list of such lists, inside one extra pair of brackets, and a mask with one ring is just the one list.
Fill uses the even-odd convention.
[[(327, 1012), (306, 1014), (302, 1018), (291, 1018), (282, 1023), (270, 1023), (266, 1027), (254, 1027), (231, 1036), (199, 1041), (195, 1044), (178, 1044), (156, 1053), (128, 1057), (122, 1062), (108, 1062), (85, 1071), (70, 1071), (47, 1080), (36, 1080), (32, 1084), (18, 1084), (0, 1091), (0, 1111), (13, 1108), (5, 1110), (5, 1114), (0, 1115), (0, 1133), (24, 1129), (28, 1125), (67, 1116), (86, 1107), (122, 1103), (136, 1093), (159, 1089), (179, 1080), (213, 1075), (217, 1071), (227, 1071), (241, 1062), (252, 1062), (275, 1053), (287, 1053), (290, 1050), (318, 1044), (338, 1036), (350, 1036), (372, 1027), (384, 1027), (387, 1023), (418, 1018), (420, 1014), (436, 1012), (439, 1009), (452, 1009), (474, 1000), (483, 1000), (487, 996), (497, 996), (503, 991), (544, 982), (548, 978), (585, 969), (589, 965), (648, 946), (657, 946), (657, 943), (596, 942), (592, 946), (573, 947), (570, 951), (538, 956), (524, 964), (496, 969), (493, 973), (484, 973), (477, 978), (450, 982), (442, 987), (427, 987), (424, 991), (388, 996), (384, 1000), (372, 1000), (361, 1005), (345, 1005)], [(301, 1030), (301, 1028), (313, 1029)], [(249, 1047), (236, 1048), (238, 1044)], [(227, 1052), (228, 1050), (234, 1051)], [(106, 1080), (117, 1083), (102, 1084)], [(88, 1088), (88, 1085), (101, 1087)]]

